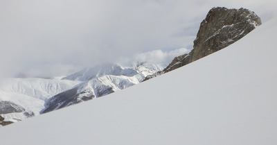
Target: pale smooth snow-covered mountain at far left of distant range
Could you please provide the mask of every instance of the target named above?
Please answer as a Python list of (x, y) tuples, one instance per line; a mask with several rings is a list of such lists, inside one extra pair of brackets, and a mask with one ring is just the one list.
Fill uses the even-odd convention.
[(51, 96), (80, 81), (43, 78), (8, 78), (0, 86), (0, 114), (6, 121), (38, 115)]

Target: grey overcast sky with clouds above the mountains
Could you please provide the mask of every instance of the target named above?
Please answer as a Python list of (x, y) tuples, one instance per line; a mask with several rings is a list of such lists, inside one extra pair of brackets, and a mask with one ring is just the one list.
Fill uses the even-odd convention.
[(262, 22), (276, 0), (0, 0), (1, 75), (60, 75), (161, 49), (191, 49), (214, 6), (249, 8)]

